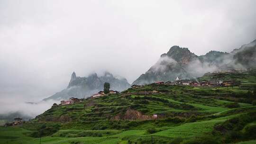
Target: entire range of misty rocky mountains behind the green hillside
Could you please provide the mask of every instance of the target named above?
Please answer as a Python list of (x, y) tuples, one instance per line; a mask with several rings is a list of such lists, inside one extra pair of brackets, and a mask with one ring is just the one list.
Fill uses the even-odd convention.
[[(166, 54), (144, 74), (140, 75), (132, 84), (148, 84), (155, 81), (173, 81), (176, 77), (196, 79), (204, 73), (221, 69), (246, 69), (256, 67), (256, 40), (242, 45), (231, 53), (210, 51), (198, 56), (188, 48), (174, 45)], [(130, 84), (125, 78), (114, 77), (110, 72), (103, 76), (96, 73), (88, 77), (77, 77), (75, 72), (71, 76), (68, 87), (55, 93), (48, 99), (69, 99), (71, 97), (87, 98), (92, 94), (103, 90), (104, 82), (110, 83), (112, 90), (126, 90)]]

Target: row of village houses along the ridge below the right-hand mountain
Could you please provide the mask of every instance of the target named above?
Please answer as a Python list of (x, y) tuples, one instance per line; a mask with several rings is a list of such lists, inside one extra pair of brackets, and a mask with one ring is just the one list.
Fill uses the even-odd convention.
[[(189, 79), (179, 79), (178, 77), (176, 78), (175, 81), (156, 81), (155, 84), (165, 84), (165, 85), (189, 85), (189, 86), (210, 86), (210, 87), (230, 87), (233, 84), (232, 80), (227, 80), (227, 81), (191, 81)], [(132, 85), (131, 89), (137, 89), (141, 87), (142, 85)]]

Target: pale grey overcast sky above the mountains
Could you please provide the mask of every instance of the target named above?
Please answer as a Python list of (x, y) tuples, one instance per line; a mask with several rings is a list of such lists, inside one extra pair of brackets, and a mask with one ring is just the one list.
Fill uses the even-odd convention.
[(0, 97), (37, 101), (71, 74), (131, 83), (173, 45), (200, 55), (256, 39), (256, 0), (0, 0)]

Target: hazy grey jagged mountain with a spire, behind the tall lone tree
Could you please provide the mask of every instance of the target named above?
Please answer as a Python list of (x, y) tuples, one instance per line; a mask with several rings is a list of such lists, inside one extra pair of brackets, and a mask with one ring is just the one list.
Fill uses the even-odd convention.
[(87, 98), (92, 94), (103, 90), (103, 84), (105, 82), (110, 83), (111, 90), (122, 91), (130, 87), (130, 84), (125, 78), (114, 77), (110, 72), (105, 72), (103, 76), (98, 76), (97, 73), (93, 73), (88, 77), (77, 77), (75, 72), (73, 72), (66, 89), (57, 92), (44, 100), (61, 100), (69, 99), (71, 97)]

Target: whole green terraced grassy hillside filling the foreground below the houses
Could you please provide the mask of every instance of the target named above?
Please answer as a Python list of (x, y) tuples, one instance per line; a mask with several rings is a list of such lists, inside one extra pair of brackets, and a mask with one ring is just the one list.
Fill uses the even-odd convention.
[(151, 84), (53, 107), (22, 126), (0, 127), (0, 144), (39, 144), (40, 135), (42, 144), (253, 144), (256, 75), (229, 78), (242, 82), (228, 88)]

